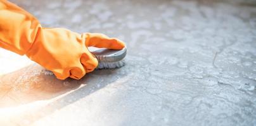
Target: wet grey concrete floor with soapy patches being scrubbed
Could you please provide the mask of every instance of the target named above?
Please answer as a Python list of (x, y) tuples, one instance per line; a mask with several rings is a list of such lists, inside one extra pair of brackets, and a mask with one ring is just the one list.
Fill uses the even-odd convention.
[(120, 69), (60, 81), (1, 49), (3, 125), (256, 125), (256, 1), (12, 1), (128, 52)]

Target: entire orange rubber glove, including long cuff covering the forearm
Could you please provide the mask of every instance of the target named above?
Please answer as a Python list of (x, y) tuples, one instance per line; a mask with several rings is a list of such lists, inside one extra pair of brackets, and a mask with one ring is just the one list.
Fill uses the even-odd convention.
[(58, 79), (80, 79), (98, 66), (87, 47), (122, 49), (124, 43), (100, 33), (79, 33), (64, 28), (42, 28), (27, 11), (0, 0), (0, 47), (27, 55)]

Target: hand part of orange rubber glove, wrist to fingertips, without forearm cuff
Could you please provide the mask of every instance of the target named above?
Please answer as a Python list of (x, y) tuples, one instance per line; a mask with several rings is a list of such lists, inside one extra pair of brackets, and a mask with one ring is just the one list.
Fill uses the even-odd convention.
[(43, 29), (26, 55), (53, 71), (58, 79), (80, 79), (98, 66), (98, 60), (87, 47), (123, 49), (124, 43), (100, 33), (82, 35), (63, 28)]

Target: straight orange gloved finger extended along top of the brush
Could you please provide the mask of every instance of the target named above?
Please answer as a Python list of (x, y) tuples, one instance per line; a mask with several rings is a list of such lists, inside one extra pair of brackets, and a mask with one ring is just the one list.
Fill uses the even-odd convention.
[(120, 50), (125, 47), (124, 42), (117, 38), (110, 38), (101, 33), (86, 33), (86, 46)]

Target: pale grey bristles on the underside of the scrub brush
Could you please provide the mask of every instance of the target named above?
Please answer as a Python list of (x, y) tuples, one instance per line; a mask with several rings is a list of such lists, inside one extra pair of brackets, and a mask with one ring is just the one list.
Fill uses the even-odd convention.
[(96, 69), (115, 69), (120, 68), (124, 65), (124, 60), (120, 60), (118, 62), (99, 62), (98, 67)]

